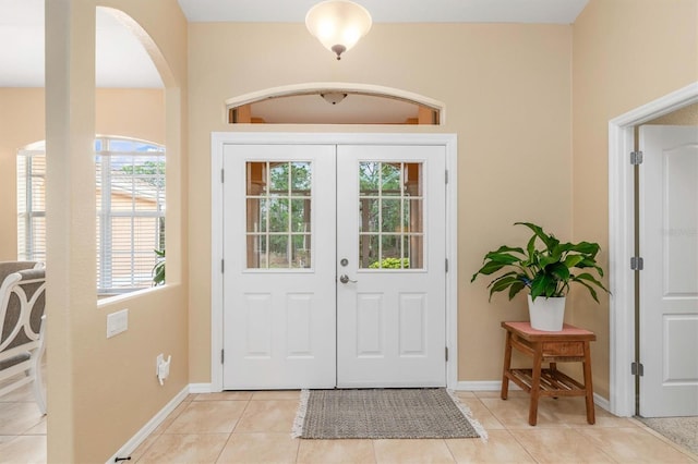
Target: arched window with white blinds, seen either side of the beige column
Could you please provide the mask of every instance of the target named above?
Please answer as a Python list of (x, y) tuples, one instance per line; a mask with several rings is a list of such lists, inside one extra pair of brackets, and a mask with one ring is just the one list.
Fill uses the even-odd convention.
[[(151, 286), (155, 249), (165, 248), (165, 147), (99, 137), (95, 166), (98, 292), (118, 294)], [(46, 258), (45, 171), (43, 146), (20, 151), (20, 259)]]

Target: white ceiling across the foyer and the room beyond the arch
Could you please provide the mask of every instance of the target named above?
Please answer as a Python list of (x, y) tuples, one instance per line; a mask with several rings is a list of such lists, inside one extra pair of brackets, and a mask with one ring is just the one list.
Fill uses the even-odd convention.
[[(44, 86), (44, 1), (0, 0), (0, 87)], [(179, 0), (190, 22), (297, 22), (315, 0)], [(588, 0), (361, 0), (375, 23), (570, 24)], [(161, 87), (141, 44), (97, 11), (98, 87)]]

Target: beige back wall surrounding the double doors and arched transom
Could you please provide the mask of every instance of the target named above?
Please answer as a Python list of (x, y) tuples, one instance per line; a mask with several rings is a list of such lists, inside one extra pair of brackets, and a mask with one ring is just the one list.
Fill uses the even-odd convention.
[[(571, 27), (375, 24), (341, 61), (303, 24), (190, 24), (191, 381), (210, 380), (210, 132), (353, 131), (458, 134), (460, 380), (501, 378), (500, 321), (526, 317), (524, 298), (488, 303), (469, 283), (484, 253), (535, 221), (571, 235)], [(225, 46), (221, 46), (225, 44)], [(264, 127), (225, 123), (224, 100), (308, 82), (354, 82), (445, 102), (443, 126)]]

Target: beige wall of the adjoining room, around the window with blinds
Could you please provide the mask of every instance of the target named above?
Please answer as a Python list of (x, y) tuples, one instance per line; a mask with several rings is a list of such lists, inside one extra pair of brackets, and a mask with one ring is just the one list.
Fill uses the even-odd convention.
[[(16, 155), (46, 138), (43, 88), (0, 88), (0, 261), (17, 258)], [(96, 131), (165, 144), (161, 89), (100, 88)]]

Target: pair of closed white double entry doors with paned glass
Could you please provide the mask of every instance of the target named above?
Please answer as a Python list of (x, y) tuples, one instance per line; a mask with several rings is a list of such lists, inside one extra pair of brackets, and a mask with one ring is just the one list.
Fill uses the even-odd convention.
[(444, 146), (225, 145), (222, 388), (446, 384)]

